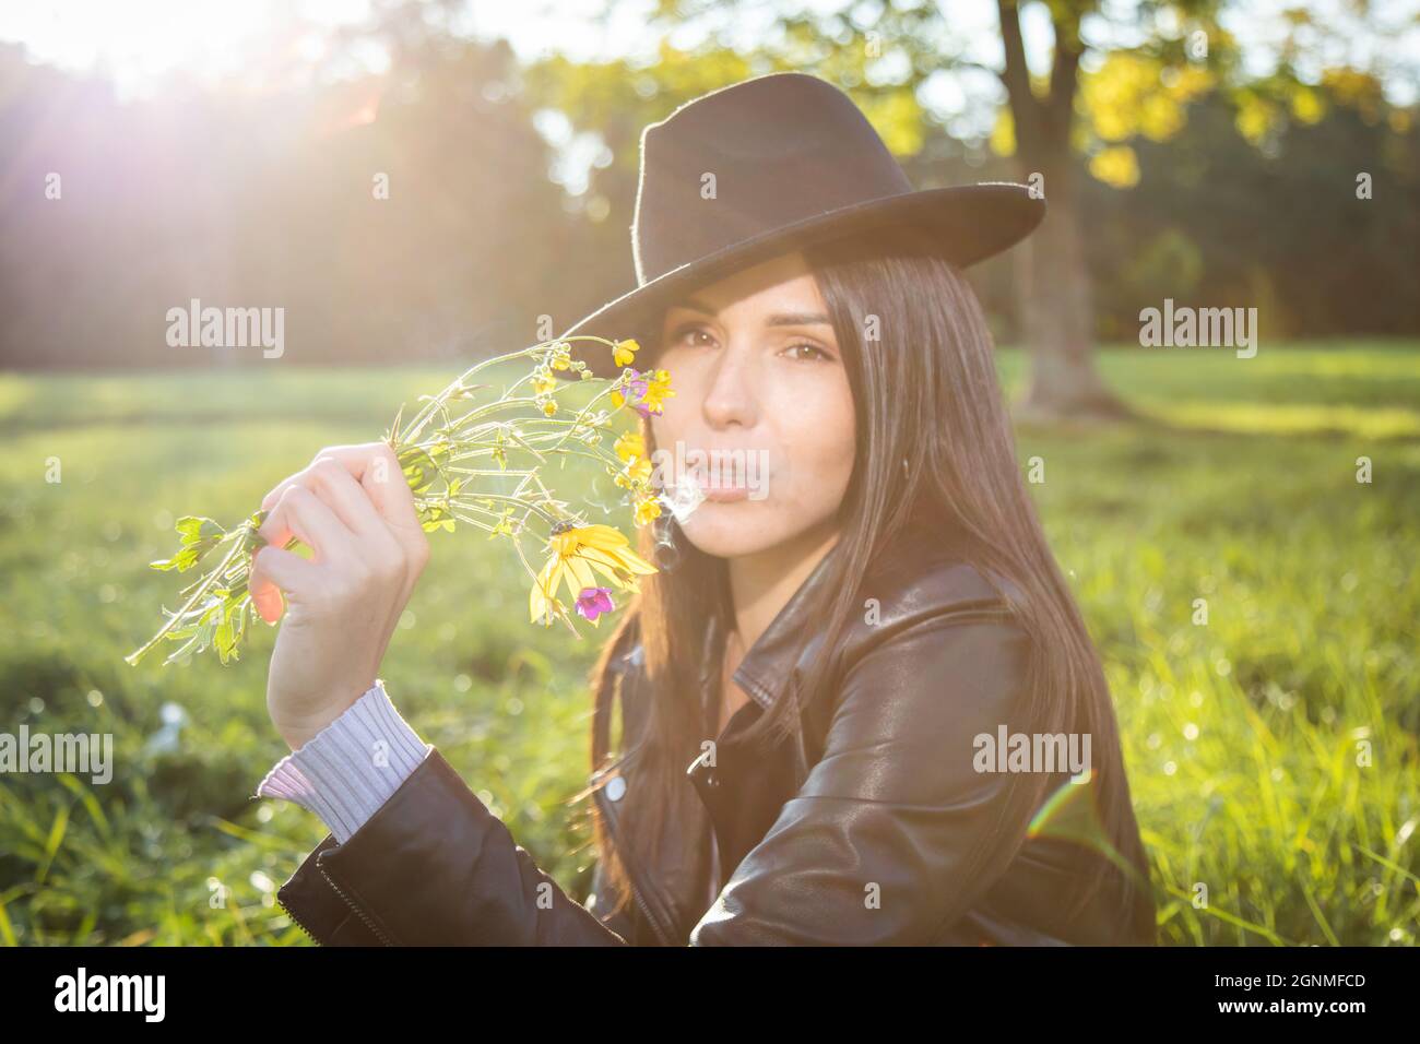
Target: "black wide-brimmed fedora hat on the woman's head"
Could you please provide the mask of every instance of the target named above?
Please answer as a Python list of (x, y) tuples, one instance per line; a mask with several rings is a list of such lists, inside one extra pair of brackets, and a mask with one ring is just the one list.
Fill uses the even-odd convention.
[[(673, 295), (809, 243), (914, 226), (967, 267), (1020, 241), (1044, 216), (1045, 200), (1024, 185), (913, 190), (842, 89), (807, 72), (770, 72), (646, 125), (630, 224), (638, 286), (558, 339), (645, 334)], [(621, 372), (611, 349), (592, 341), (572, 342), (572, 358), (596, 376)]]

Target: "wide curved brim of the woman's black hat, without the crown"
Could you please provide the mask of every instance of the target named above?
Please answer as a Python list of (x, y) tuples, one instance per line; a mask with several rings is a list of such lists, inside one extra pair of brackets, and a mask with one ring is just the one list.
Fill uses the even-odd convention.
[[(713, 281), (750, 261), (809, 243), (875, 229), (912, 226), (926, 230), (940, 243), (943, 259), (966, 268), (1015, 246), (1044, 217), (1045, 200), (1034, 196), (1028, 186), (1010, 182), (953, 185), (863, 200), (780, 226), (672, 268), (582, 317), (557, 339), (582, 335), (609, 341), (645, 337), (646, 318), (669, 305), (674, 295), (687, 293), (692, 286)], [(595, 376), (611, 378), (622, 369), (612, 362), (611, 348), (592, 341), (574, 341), (572, 358), (585, 359)], [(571, 369), (552, 372), (567, 379), (578, 376)]]

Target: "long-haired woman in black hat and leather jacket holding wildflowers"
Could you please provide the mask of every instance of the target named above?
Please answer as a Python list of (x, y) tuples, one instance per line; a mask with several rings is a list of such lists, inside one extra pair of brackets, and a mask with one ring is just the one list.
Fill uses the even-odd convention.
[(288, 601), (268, 706), (293, 754), (258, 793), (332, 830), (280, 892), (293, 916), (325, 943), (1152, 942), (1099, 656), (960, 274), (1039, 212), (1020, 186), (912, 192), (815, 77), (648, 128), (639, 286), (567, 335), (632, 332), (670, 374), (643, 437), (704, 455), (707, 499), (662, 527), (670, 560), (592, 672), (592, 893), (375, 679), (427, 545), (376, 477), (389, 450), (348, 446), (267, 496), (251, 584), (267, 619)]

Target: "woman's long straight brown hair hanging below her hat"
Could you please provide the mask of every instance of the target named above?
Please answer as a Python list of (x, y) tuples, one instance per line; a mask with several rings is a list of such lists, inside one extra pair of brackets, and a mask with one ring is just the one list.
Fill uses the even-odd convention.
[[(1112, 883), (1126, 895), (1119, 916), (1153, 939), (1147, 861), (1108, 683), (1022, 480), (991, 335), (976, 294), (917, 230), (859, 234), (805, 247), (802, 253), (828, 305), (858, 418), (856, 456), (839, 514), (842, 535), (832, 548), (832, 575), (819, 588), (821, 604), (809, 609), (814, 619), (825, 621), (818, 648), (836, 648), (849, 616), (862, 611), (861, 578), (909, 517), (924, 511), (943, 527), (953, 526), (968, 560), (988, 578), (1008, 581), (1001, 594), (1032, 638), (1024, 712), (1028, 727), (1092, 737), (1095, 815), (1106, 842), (1135, 872), (1108, 865), (1091, 875), (1075, 895), (1076, 909)], [(642, 345), (657, 345), (660, 318), (635, 324)], [(878, 337), (865, 338), (868, 330), (876, 330)], [(653, 359), (653, 351), (643, 358)], [(642, 435), (652, 450), (646, 422)], [(622, 751), (628, 763), (635, 758), (639, 785), (622, 798), (619, 820), (625, 830), (619, 835), (645, 866), (655, 865), (652, 854), (665, 824), (680, 818), (682, 803), (699, 801), (684, 773), (706, 739), (699, 703), (706, 628), (711, 615), (719, 615), (721, 635), (734, 625), (726, 561), (696, 550), (673, 520), (640, 530), (640, 553), (646, 557), (665, 557), (667, 543), (673, 568), (642, 578), (640, 591), (589, 678), (594, 693), (605, 695), (605, 686), (612, 683), (613, 652), (636, 639), (642, 642), (652, 697), (643, 741)], [(1021, 598), (1010, 597), (1011, 585)], [(804, 693), (815, 693), (831, 680), (829, 659), (815, 658)], [(714, 676), (719, 683), (719, 668)], [(780, 690), (748, 739), (772, 744), (801, 729), (802, 700), (787, 682), (780, 679)], [(601, 719), (594, 720), (594, 770), (612, 757), (605, 713), (604, 707)], [(1042, 773), (1012, 774), (1001, 807), (1001, 844), (1017, 845), (1025, 838), (1032, 817), (1049, 797), (1048, 783)], [(595, 803), (592, 824), (608, 879), (625, 901), (625, 868)], [(984, 857), (976, 852), (966, 872), (973, 874)]]

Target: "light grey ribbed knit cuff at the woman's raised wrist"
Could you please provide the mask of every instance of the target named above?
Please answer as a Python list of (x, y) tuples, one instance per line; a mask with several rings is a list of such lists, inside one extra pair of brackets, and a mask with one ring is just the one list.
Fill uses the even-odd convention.
[(383, 680), (267, 773), (257, 797), (294, 801), (345, 844), (433, 750), (389, 702)]

